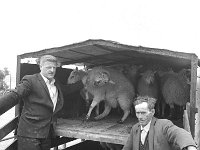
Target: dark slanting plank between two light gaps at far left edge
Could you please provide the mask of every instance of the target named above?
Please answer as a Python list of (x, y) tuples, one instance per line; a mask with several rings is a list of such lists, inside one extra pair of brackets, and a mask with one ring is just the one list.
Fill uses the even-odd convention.
[(18, 117), (15, 117), (13, 120), (11, 120), (9, 123), (7, 123), (5, 126), (3, 126), (0, 129), (0, 139), (3, 139), (11, 131), (13, 131), (14, 129), (16, 129), (17, 122), (18, 122)]

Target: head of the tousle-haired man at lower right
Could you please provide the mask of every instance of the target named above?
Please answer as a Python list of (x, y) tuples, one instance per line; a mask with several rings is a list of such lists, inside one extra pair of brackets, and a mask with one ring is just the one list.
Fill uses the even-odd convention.
[(141, 126), (146, 126), (155, 114), (156, 99), (148, 96), (138, 96), (134, 101), (135, 112)]

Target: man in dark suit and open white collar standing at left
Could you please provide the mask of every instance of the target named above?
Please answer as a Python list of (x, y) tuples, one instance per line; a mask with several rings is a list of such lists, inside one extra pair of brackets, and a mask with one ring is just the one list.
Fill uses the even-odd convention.
[(57, 66), (56, 57), (42, 56), (40, 73), (24, 76), (9, 93), (11, 98), (24, 102), (17, 129), (18, 150), (49, 150), (51, 138), (55, 136), (56, 113), (64, 103), (62, 91), (83, 88), (84, 81), (61, 87), (54, 78)]

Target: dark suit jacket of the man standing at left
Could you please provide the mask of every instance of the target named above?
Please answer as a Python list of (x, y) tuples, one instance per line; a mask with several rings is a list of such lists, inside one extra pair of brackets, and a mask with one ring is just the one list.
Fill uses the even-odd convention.
[(50, 125), (54, 125), (56, 122), (56, 113), (63, 106), (64, 98), (62, 92), (70, 93), (83, 88), (82, 82), (63, 86), (57, 80), (55, 81), (55, 86), (58, 89), (58, 100), (54, 112), (48, 88), (40, 74), (26, 75), (16, 86), (11, 94), (16, 94), (16, 98), (22, 99), (24, 102), (17, 135), (46, 138)]

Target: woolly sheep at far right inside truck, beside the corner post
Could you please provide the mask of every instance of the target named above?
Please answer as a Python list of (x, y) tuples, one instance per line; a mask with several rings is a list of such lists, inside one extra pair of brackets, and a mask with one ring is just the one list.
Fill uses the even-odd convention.
[(187, 69), (182, 69), (178, 73), (173, 70), (168, 72), (159, 72), (161, 78), (161, 90), (163, 96), (162, 116), (165, 114), (166, 104), (170, 107), (170, 113), (167, 118), (175, 118), (174, 105), (185, 107), (190, 100), (189, 78), (187, 76)]

